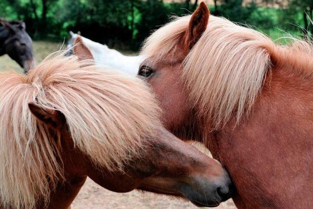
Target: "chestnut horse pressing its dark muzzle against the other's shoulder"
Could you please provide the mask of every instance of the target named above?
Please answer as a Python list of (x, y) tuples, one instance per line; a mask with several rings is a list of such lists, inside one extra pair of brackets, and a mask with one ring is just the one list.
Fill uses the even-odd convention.
[(217, 161), (166, 131), (144, 82), (94, 66), (88, 49), (0, 73), (0, 208), (66, 209), (87, 177), (217, 206), (231, 184)]

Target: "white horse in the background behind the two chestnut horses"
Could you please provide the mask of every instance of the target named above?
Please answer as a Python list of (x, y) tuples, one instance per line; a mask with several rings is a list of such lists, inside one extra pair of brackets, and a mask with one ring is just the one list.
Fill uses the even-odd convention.
[[(67, 49), (73, 47), (73, 43), (78, 34), (69, 31), (71, 38), (67, 43)], [(84, 44), (89, 48), (96, 63), (106, 65), (113, 69), (122, 70), (131, 75), (136, 75), (140, 63), (144, 60), (143, 55), (139, 56), (126, 56), (115, 49), (109, 48), (107, 45), (91, 41), (88, 38), (81, 36)]]

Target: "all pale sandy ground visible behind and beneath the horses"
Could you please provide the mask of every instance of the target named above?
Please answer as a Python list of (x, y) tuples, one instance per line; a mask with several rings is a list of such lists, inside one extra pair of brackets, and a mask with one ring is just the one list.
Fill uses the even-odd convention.
[[(62, 44), (49, 42), (34, 42), (34, 54), (37, 62), (45, 56), (61, 48)], [(0, 70), (22, 69), (9, 56), (0, 57)], [(196, 145), (202, 152), (207, 153), (201, 145)], [(87, 179), (78, 196), (72, 203), (72, 209), (196, 209), (197, 207), (180, 199), (169, 196), (155, 195), (132, 191), (128, 193), (115, 193), (102, 188), (92, 180)], [(219, 209), (236, 209), (232, 200), (222, 203)]]

